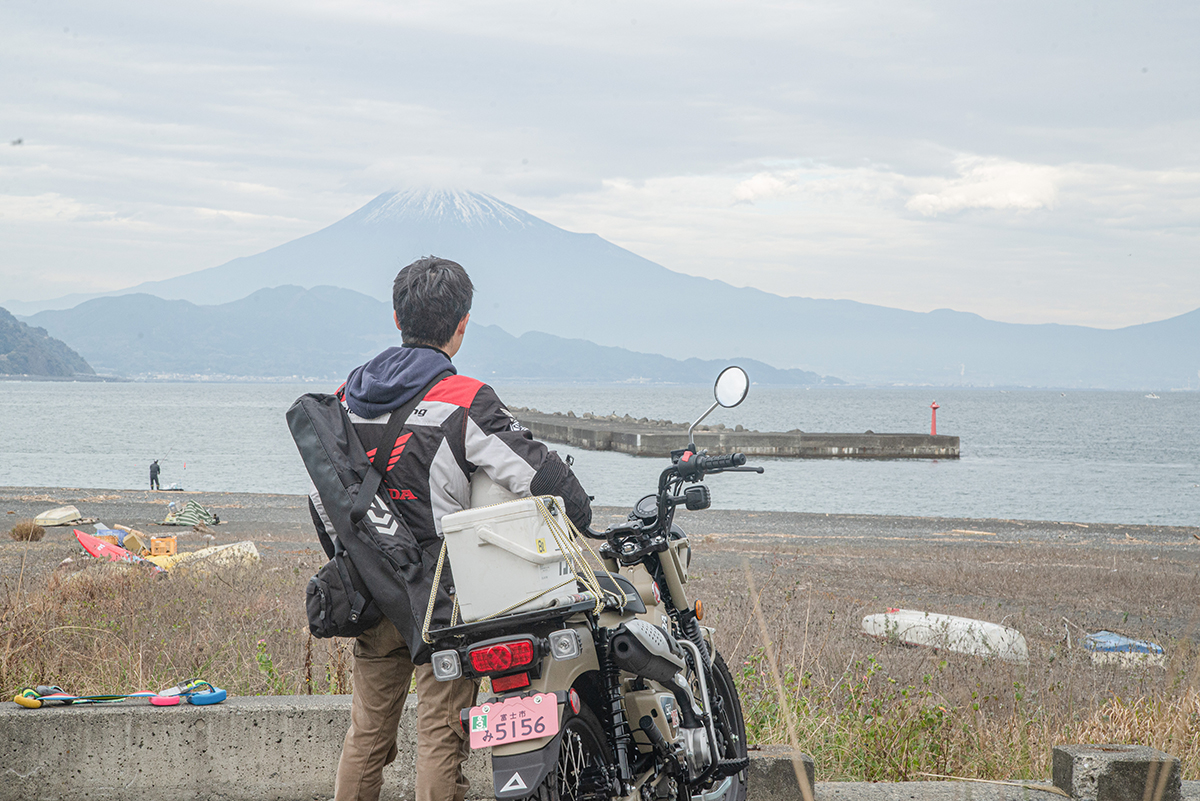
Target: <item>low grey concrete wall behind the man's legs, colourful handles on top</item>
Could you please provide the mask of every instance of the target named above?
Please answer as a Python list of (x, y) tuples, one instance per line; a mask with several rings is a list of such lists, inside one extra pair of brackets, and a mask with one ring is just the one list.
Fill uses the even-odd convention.
[[(143, 700), (28, 710), (0, 705), (0, 799), (23, 801), (300, 801), (329, 799), (349, 695), (230, 698), (218, 706)], [(415, 700), (401, 719), (400, 757), (384, 799), (413, 797)], [(757, 754), (752, 801), (799, 797), (791, 760)], [(468, 761), (470, 797), (492, 795), (486, 752)]]

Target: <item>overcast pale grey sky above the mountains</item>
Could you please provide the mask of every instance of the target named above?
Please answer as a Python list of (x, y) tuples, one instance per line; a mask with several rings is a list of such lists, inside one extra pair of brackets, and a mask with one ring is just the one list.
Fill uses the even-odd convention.
[(1162, 319), (1198, 42), (1195, 2), (0, 0), (0, 301), (434, 185), (784, 295)]

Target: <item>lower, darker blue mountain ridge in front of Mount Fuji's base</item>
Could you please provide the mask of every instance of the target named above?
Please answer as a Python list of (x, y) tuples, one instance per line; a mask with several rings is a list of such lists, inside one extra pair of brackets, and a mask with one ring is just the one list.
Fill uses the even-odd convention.
[[(277, 287), (217, 306), (136, 294), (97, 297), (29, 318), (73, 343), (102, 371), (124, 375), (305, 377), (343, 380), (400, 344), (391, 305), (335, 287)], [(763, 385), (842, 384), (739, 360)], [(678, 361), (582, 339), (472, 324), (455, 365), (484, 380), (704, 384), (722, 361)]]

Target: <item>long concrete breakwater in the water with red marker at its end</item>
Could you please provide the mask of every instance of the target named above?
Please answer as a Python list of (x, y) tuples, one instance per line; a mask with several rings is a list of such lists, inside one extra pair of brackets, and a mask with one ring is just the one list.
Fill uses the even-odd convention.
[[(688, 427), (666, 420), (635, 420), (625, 415), (595, 416), (574, 412), (546, 414), (512, 408), (512, 414), (533, 435), (589, 451), (620, 451), (634, 456), (666, 457), (688, 442)], [(701, 426), (696, 446), (709, 453), (740, 452), (800, 459), (956, 459), (959, 438), (938, 434), (814, 434), (802, 430), (756, 432), (742, 426)]]

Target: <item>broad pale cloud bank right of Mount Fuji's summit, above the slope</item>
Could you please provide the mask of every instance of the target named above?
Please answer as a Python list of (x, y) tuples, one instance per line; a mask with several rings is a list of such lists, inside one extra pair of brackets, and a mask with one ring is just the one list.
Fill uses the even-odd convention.
[(1200, 171), (976, 155), (943, 165), (958, 177), (773, 162), (502, 197), (672, 270), (781, 295), (1104, 327), (1200, 306)]

